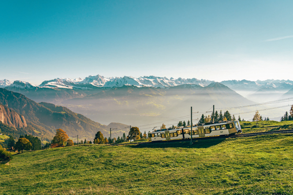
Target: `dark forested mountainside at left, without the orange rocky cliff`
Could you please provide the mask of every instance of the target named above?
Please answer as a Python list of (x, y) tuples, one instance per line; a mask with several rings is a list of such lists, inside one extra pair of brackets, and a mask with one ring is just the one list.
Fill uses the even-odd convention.
[(93, 137), (98, 131), (107, 134), (106, 125), (94, 122), (83, 115), (74, 113), (62, 106), (50, 103), (37, 103), (24, 95), (0, 88), (0, 104), (13, 109), (22, 115), (27, 127), (21, 131), (28, 131), (34, 136), (52, 139), (56, 129), (63, 129), (69, 137)]

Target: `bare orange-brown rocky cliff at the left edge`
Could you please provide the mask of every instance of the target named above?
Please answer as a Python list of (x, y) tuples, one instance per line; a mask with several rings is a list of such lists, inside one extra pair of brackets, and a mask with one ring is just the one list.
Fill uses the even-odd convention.
[(0, 121), (15, 128), (24, 128), (27, 126), (23, 116), (2, 104), (0, 104)]

